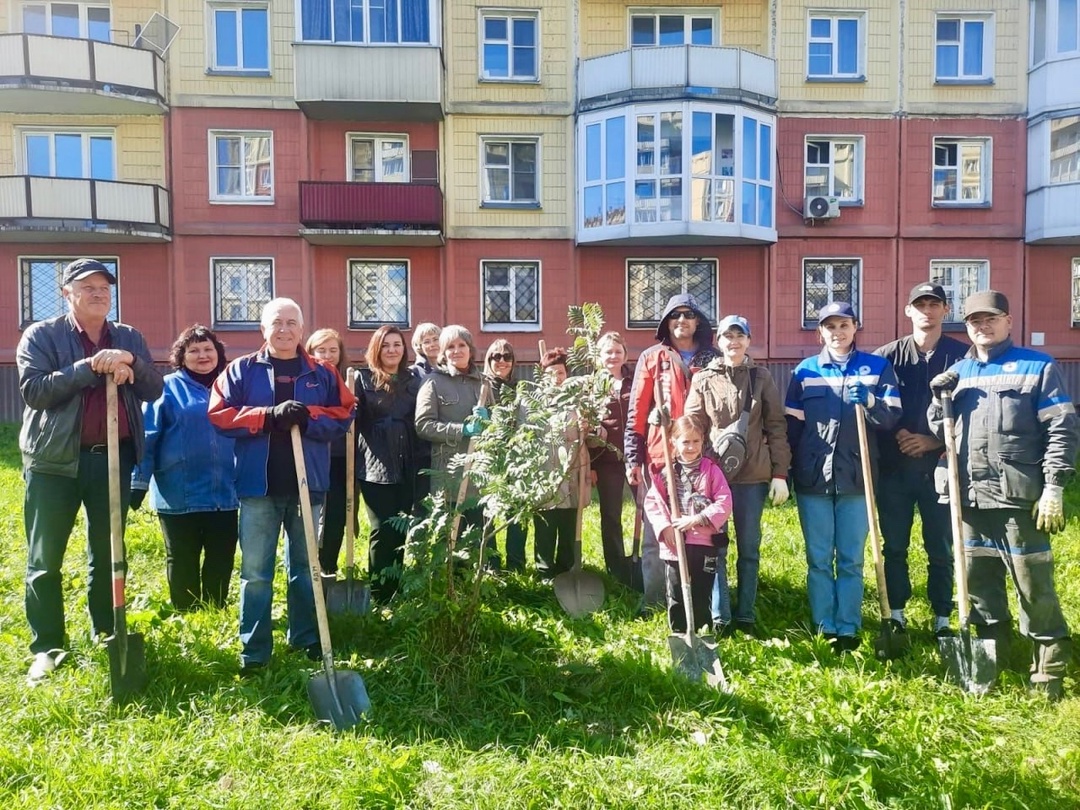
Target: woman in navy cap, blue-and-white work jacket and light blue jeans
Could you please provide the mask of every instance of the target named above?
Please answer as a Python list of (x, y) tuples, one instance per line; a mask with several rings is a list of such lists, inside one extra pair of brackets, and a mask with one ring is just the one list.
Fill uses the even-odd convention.
[(885, 357), (855, 348), (858, 329), (850, 303), (822, 307), (818, 332), (824, 348), (796, 366), (785, 402), (810, 615), (837, 652), (859, 647), (869, 531), (855, 408), (866, 409), (874, 463), (873, 429), (889, 430), (901, 416), (896, 375)]

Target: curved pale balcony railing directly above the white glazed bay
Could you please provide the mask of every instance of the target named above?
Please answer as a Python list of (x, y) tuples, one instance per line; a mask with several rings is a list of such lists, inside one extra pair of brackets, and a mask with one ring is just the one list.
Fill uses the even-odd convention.
[(667, 45), (634, 48), (579, 64), (580, 111), (687, 97), (775, 109), (775, 59), (741, 48)]

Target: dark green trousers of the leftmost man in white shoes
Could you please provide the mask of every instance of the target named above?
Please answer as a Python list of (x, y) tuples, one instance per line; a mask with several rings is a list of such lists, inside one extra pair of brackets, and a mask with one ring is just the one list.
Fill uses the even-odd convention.
[[(120, 445), (120, 514), (126, 521), (135, 449)], [(86, 514), (86, 602), (91, 633), (112, 633), (112, 554), (109, 550), (109, 457), (84, 449), (73, 478), (27, 470), (23, 518), (26, 525), (26, 620), (30, 651), (64, 647), (60, 568), (81, 505)]]

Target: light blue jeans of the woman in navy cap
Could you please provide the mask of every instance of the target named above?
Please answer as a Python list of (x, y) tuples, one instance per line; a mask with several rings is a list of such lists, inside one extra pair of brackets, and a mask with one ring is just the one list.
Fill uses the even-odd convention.
[(807, 594), (819, 633), (853, 636), (863, 623), (863, 548), (869, 525), (861, 495), (798, 494), (807, 546)]

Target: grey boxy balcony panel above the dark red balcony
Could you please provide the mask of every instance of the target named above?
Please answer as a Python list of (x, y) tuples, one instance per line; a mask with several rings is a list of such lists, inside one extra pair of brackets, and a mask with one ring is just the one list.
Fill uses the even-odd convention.
[(438, 121), (442, 50), (296, 42), (296, 104), (308, 118)]

